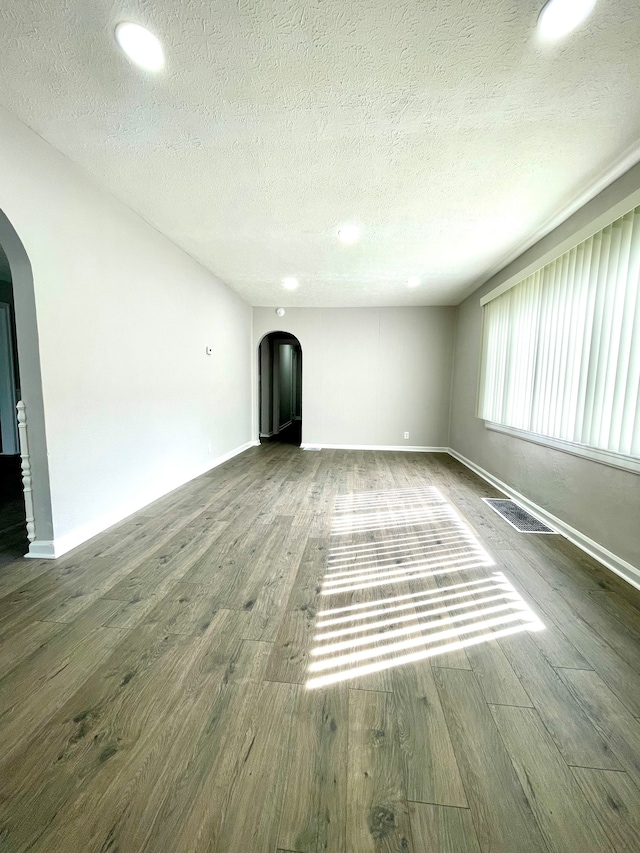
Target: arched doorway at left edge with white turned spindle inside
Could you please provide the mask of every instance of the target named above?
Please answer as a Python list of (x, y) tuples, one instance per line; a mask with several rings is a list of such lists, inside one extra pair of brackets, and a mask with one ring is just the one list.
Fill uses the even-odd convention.
[(52, 556), (53, 540), (33, 274), (2, 211), (0, 282), (0, 501), (7, 520), (0, 526), (1, 568), (22, 555)]

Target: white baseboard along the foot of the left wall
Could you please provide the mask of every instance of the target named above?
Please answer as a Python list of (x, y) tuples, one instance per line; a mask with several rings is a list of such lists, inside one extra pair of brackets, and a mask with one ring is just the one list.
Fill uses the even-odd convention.
[(159, 498), (168, 495), (169, 492), (172, 492), (174, 489), (184, 486), (185, 483), (195, 480), (196, 477), (206, 474), (207, 471), (217, 468), (218, 465), (222, 465), (223, 462), (233, 459), (234, 456), (237, 456), (239, 453), (244, 453), (245, 450), (248, 450), (250, 447), (255, 447), (258, 444), (260, 444), (259, 441), (247, 441), (246, 444), (236, 447), (233, 450), (228, 451), (228, 453), (224, 453), (222, 456), (218, 456), (213, 460), (213, 462), (208, 462), (205, 466), (190, 473), (187, 477), (181, 477), (175, 481), (166, 483), (161, 489), (157, 489), (154, 492), (147, 492), (143, 496), (138, 496), (135, 501), (128, 504), (121, 504), (112, 512), (100, 516), (100, 518), (93, 519), (87, 524), (83, 524), (82, 527), (77, 528), (77, 530), (73, 530), (71, 533), (67, 533), (57, 539), (36, 539), (35, 542), (32, 542), (29, 545), (29, 551), (25, 554), (25, 557), (31, 560), (55, 560), (63, 554), (66, 554), (68, 551), (71, 551), (73, 548), (77, 548), (78, 545), (82, 545), (89, 539), (93, 539), (94, 536), (97, 536), (109, 527), (113, 527), (114, 524), (118, 524), (118, 522), (123, 521), (130, 515), (133, 515), (134, 512), (139, 512), (141, 509), (144, 509), (145, 506), (153, 503), (153, 501), (157, 501)]

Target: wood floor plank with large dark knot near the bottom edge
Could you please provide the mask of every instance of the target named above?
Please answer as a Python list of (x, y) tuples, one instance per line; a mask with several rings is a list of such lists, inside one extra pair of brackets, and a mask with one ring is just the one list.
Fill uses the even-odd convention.
[(349, 693), (349, 853), (411, 853), (409, 810), (393, 695)]

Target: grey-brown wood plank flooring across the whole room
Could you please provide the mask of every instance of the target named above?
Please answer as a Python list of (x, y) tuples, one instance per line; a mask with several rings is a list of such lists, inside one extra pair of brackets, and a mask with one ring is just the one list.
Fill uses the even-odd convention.
[(491, 495), (267, 444), (3, 558), (0, 851), (638, 853), (640, 593)]

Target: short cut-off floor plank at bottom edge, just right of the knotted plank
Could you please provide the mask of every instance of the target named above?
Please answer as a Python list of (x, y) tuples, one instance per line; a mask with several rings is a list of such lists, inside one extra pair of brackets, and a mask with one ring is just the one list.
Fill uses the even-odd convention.
[(468, 809), (409, 803), (416, 850), (433, 853), (481, 853)]

